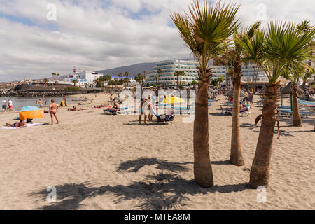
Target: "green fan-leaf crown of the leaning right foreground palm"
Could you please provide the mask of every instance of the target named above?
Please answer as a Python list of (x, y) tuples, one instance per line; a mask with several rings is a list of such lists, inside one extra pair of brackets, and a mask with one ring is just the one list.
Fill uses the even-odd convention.
[(253, 38), (237, 37), (237, 42), (246, 50), (248, 59), (262, 67), (269, 82), (276, 83), (288, 67), (300, 71), (301, 66), (306, 66), (314, 34), (314, 27), (302, 30), (293, 23), (273, 20), (265, 32), (256, 31)]

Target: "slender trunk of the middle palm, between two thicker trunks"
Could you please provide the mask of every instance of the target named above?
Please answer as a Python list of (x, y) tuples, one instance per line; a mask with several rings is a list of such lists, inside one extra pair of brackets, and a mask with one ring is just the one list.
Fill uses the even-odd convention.
[(234, 74), (234, 102), (232, 110), (232, 137), (231, 137), (231, 154), (230, 162), (236, 166), (243, 166), (245, 164), (243, 155), (241, 153), (241, 138), (239, 126), (239, 98), (241, 92), (241, 60), (237, 57), (235, 63)]

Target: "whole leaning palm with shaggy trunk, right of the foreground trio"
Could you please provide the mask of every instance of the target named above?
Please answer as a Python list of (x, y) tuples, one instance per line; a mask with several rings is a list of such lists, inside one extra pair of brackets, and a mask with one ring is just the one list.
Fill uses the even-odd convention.
[[(249, 181), (253, 188), (267, 187), (269, 184), (274, 126), (276, 122), (279, 125), (279, 120), (276, 118), (276, 102), (279, 101), (281, 85), (278, 78), (293, 64), (304, 66), (304, 60), (310, 58), (311, 50), (307, 46), (314, 38), (314, 34), (314, 27), (303, 33), (293, 23), (279, 21), (269, 22), (265, 32), (265, 38), (262, 41), (262, 59), (258, 60), (257, 63), (265, 71), (269, 84), (265, 87), (265, 92), (262, 95), (264, 98), (262, 115), (258, 116), (255, 121), (258, 123), (259, 120), (262, 120)], [(253, 52), (255, 40), (256, 38), (253, 40), (246, 38), (239, 41), (242, 48), (252, 58), (255, 57), (255, 52)]]

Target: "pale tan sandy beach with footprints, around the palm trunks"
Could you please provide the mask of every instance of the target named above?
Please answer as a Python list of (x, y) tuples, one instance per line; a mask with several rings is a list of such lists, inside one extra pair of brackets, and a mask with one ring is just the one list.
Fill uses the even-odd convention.
[[(193, 181), (193, 123), (183, 123), (185, 116), (138, 125), (138, 116), (104, 115), (85, 105), (80, 108), (87, 111), (60, 109), (59, 125), (0, 129), (0, 209), (314, 209), (315, 116), (302, 118), (303, 127), (280, 119), (261, 203), (247, 183), (259, 134), (253, 123), (262, 107), (240, 118), (246, 164), (235, 167), (228, 162), (232, 116), (221, 115), (225, 101), (219, 99), (209, 107), (213, 188)], [(108, 100), (97, 94), (92, 105)], [(16, 116), (0, 113), (1, 127)], [(50, 116), (34, 122), (50, 124)], [(55, 203), (46, 199), (50, 186)]]

